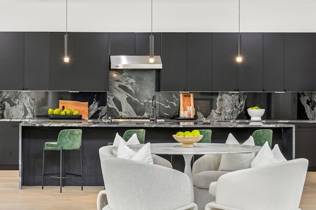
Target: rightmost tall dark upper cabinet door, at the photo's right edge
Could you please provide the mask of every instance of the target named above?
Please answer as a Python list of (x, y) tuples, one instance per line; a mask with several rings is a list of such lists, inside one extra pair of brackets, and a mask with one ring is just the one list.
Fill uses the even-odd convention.
[(284, 34), (286, 91), (315, 91), (316, 33)]

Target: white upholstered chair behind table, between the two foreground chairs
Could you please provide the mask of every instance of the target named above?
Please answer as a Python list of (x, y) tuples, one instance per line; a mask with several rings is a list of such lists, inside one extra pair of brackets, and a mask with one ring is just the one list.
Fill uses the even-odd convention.
[(192, 167), (194, 202), (198, 210), (204, 210), (205, 205), (215, 201), (215, 197), (208, 192), (209, 184), (217, 181), (220, 176), (230, 171), (218, 171), (222, 154), (204, 154), (198, 158)]

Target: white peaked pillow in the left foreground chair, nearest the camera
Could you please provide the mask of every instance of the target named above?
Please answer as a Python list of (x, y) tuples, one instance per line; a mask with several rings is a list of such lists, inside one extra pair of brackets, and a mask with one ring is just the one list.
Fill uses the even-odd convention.
[(124, 140), (120, 140), (118, 144), (118, 158), (135, 160), (142, 163), (154, 163), (150, 150), (150, 142), (145, 144), (140, 150), (136, 152), (125, 145), (123, 141)]

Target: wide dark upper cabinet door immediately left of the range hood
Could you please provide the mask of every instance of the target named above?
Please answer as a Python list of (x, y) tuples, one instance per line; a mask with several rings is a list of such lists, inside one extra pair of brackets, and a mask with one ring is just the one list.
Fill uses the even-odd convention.
[(75, 33), (74, 90), (108, 89), (108, 33)]

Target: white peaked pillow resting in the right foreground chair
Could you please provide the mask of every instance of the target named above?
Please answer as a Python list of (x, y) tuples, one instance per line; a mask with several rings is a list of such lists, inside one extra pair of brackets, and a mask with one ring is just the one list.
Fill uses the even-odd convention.
[(268, 142), (266, 142), (251, 162), (251, 168), (286, 161), (277, 145), (275, 145), (273, 150), (274, 152), (270, 149)]

